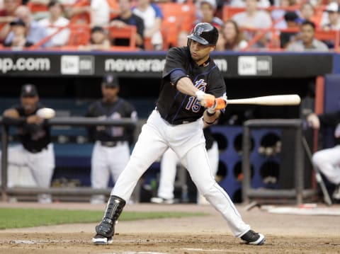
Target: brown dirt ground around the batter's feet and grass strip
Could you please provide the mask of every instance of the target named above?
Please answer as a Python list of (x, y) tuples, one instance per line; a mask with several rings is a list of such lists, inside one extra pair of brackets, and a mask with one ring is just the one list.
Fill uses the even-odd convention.
[[(0, 203), (0, 207), (98, 209), (86, 203)], [(322, 204), (318, 204), (322, 207)], [(246, 211), (244, 221), (266, 235), (263, 246), (248, 246), (234, 238), (227, 223), (210, 205), (129, 204), (125, 211), (205, 212), (205, 217), (119, 221), (112, 245), (94, 246), (96, 224), (40, 226), (0, 231), (0, 253), (44, 254), (217, 254), (217, 253), (340, 253), (340, 216), (273, 214), (259, 207)], [(330, 209), (339, 211), (336, 204)]]

